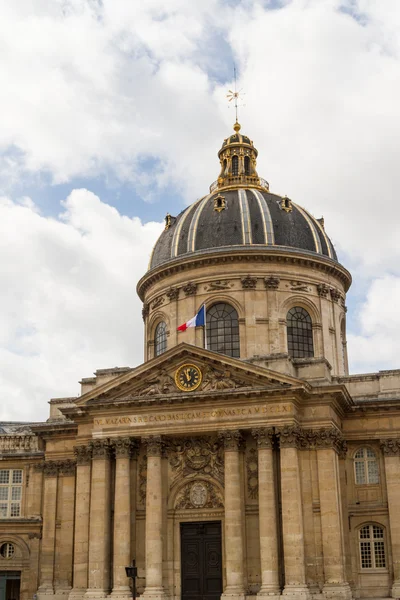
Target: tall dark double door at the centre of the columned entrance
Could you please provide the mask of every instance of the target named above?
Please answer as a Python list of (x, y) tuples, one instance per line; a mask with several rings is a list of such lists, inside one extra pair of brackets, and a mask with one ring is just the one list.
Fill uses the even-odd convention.
[(181, 523), (182, 600), (220, 600), (221, 521)]

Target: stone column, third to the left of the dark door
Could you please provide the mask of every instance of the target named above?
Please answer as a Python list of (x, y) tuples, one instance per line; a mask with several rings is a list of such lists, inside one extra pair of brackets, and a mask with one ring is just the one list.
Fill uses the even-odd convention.
[(107, 440), (94, 440), (89, 525), (89, 587), (85, 597), (105, 598), (110, 588), (110, 452)]

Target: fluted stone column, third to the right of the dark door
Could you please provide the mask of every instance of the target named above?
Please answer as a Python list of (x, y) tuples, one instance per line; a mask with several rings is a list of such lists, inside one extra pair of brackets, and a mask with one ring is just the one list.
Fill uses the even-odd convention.
[(282, 529), (285, 566), (283, 595), (309, 598), (304, 564), (303, 505), (298, 457), (301, 430), (286, 426), (279, 430)]

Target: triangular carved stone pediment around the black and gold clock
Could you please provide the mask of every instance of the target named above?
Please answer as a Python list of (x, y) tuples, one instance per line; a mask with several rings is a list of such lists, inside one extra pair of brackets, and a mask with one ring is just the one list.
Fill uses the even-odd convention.
[[(184, 365), (195, 365), (201, 372), (201, 383), (193, 391), (182, 390), (177, 385), (176, 373)], [(283, 375), (231, 358), (179, 344), (161, 356), (125, 372), (115, 379), (83, 395), (77, 406), (93, 405), (107, 401), (156, 400), (157, 398), (198, 397), (216, 393), (246, 390), (276, 390), (305, 388), (300, 379)]]

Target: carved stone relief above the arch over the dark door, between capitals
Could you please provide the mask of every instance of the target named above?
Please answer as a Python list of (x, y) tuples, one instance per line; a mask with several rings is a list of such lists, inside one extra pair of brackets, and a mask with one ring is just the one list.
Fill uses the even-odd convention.
[[(185, 438), (172, 440), (169, 445), (169, 464), (173, 483), (180, 477), (210, 475), (223, 482), (224, 452), (214, 438)], [(172, 483), (172, 485), (173, 485)]]

